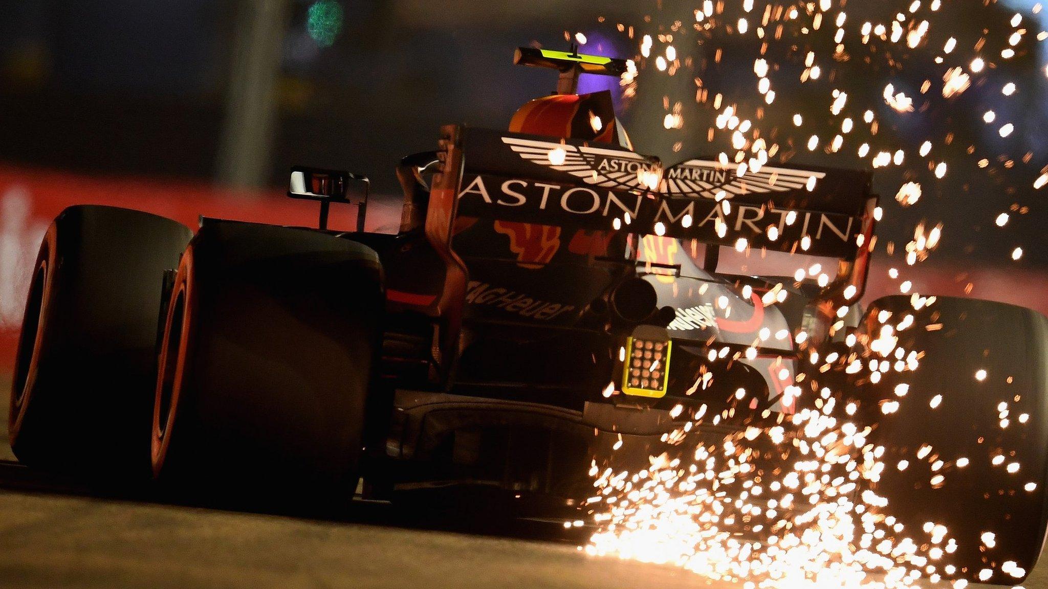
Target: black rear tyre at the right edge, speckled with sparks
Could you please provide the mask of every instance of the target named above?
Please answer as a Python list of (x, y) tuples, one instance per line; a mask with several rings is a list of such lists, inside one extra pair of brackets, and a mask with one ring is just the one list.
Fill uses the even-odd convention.
[(953, 564), (957, 576), (1016, 585), (1045, 538), (1048, 319), (975, 299), (918, 306), (878, 299), (863, 325), (877, 341), (864, 364), (891, 366), (856, 389), (876, 416), (868, 440), (885, 449), (874, 490), (918, 545), (927, 522), (945, 526), (942, 542), (956, 546), (932, 563), (939, 570)]

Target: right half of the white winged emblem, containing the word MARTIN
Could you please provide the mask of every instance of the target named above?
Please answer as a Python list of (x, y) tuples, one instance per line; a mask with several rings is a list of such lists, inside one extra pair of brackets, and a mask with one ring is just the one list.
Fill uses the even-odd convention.
[(721, 191), (727, 198), (745, 194), (787, 192), (805, 188), (826, 176), (825, 172), (763, 166), (757, 172), (737, 176), (734, 168), (719, 161), (689, 159), (665, 171), (660, 192), (667, 196), (716, 198)]

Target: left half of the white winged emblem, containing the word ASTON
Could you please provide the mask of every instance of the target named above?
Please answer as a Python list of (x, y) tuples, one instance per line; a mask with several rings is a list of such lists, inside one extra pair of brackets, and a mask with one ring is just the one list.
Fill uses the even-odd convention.
[(502, 141), (527, 161), (566, 172), (587, 184), (602, 188), (649, 190), (641, 173), (657, 173), (661, 168), (657, 159), (632, 151), (518, 137), (502, 137)]

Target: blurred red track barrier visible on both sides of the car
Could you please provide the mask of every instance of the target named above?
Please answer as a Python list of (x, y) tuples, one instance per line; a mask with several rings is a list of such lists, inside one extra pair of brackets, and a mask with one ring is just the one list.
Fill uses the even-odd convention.
[[(171, 217), (190, 227), (200, 215), (285, 225), (314, 226), (316, 204), (285, 198), (279, 191), (237, 192), (202, 182), (93, 177), (50, 170), (0, 166), (0, 372), (14, 365), (16, 337), (29, 275), (48, 223), (70, 204), (110, 204)], [(398, 205), (370, 208), (368, 228), (395, 226)], [(352, 208), (334, 208), (332, 227), (355, 224)], [(899, 266), (898, 280), (874, 255), (867, 300), (898, 293), (904, 280), (921, 293), (970, 296), (1031, 307), (1048, 313), (1048, 274), (999, 267), (949, 266), (935, 259), (916, 268)], [(971, 284), (970, 289), (968, 284)], [(968, 290), (966, 292), (966, 290)]]

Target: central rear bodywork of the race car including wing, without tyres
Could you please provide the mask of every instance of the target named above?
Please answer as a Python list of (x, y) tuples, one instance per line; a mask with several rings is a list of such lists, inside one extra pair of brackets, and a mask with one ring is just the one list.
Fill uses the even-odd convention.
[[(386, 271), (393, 424), (375, 456), (378, 495), (480, 483), (570, 503), (609, 439), (637, 437), (639, 455), (682, 414), (790, 413), (794, 337), (843, 331), (821, 308), (861, 294), (867, 172), (663, 169), (613, 145), (460, 127), (439, 146), (398, 171), (398, 235), (345, 235)], [(718, 274), (699, 244), (839, 266), (825, 288), (803, 287)], [(636, 281), (655, 300), (631, 318), (616, 305)], [(654, 368), (634, 366), (661, 346)], [(728, 376), (711, 381), (715, 366)]]

